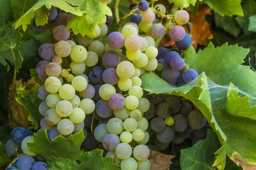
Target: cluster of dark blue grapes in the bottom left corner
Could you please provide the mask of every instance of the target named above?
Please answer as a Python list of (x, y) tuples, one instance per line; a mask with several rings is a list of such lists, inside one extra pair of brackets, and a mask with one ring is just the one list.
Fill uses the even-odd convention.
[(22, 170), (47, 170), (48, 166), (44, 159), (39, 155), (31, 152), (28, 149), (27, 142), (33, 141), (33, 131), (24, 129), (24, 127), (15, 127), (11, 132), (11, 139), (5, 145), (6, 153), (10, 158), (17, 157), (23, 153), (14, 162), (12, 166), (7, 167), (6, 170), (22, 169)]

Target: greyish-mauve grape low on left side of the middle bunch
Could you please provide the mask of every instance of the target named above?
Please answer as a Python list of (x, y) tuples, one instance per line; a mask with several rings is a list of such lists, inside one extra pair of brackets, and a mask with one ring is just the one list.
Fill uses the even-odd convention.
[(102, 139), (102, 145), (108, 151), (114, 151), (118, 144), (120, 139), (116, 134), (106, 134)]

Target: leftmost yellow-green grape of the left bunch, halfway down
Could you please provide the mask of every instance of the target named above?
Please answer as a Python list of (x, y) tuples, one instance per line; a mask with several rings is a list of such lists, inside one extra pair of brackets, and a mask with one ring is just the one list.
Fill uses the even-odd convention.
[(51, 76), (45, 80), (44, 87), (45, 87), (45, 90), (51, 94), (58, 93), (61, 87), (61, 81), (60, 79), (54, 76)]

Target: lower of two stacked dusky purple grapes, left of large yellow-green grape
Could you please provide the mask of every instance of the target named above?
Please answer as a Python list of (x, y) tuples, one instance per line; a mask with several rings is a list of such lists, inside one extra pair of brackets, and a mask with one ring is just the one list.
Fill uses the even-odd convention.
[(105, 69), (105, 71), (102, 74), (103, 81), (105, 83), (111, 84), (111, 85), (116, 85), (118, 82), (119, 78), (116, 74), (116, 69), (115, 68), (108, 68)]

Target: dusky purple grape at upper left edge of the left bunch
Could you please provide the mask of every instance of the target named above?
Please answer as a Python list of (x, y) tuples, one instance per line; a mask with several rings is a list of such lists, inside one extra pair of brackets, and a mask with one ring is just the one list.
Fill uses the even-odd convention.
[(51, 60), (54, 52), (54, 45), (52, 43), (44, 43), (39, 46), (38, 53), (44, 60)]

